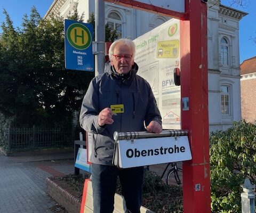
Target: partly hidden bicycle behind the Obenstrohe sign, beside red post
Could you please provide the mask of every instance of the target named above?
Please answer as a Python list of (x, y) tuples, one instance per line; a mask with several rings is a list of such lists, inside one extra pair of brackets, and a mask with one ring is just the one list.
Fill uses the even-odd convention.
[(182, 169), (177, 166), (177, 163), (176, 163), (176, 162), (174, 162), (174, 163), (171, 162), (171, 163), (168, 163), (168, 164), (167, 164), (167, 166), (165, 167), (165, 169), (164, 169), (164, 171), (163, 171), (163, 174), (162, 174), (162, 176), (161, 176), (161, 179), (164, 177), (165, 171), (167, 170), (167, 168), (168, 168), (170, 165), (172, 166), (172, 168), (171, 168), (171, 169), (168, 171), (168, 173), (167, 173), (167, 176), (166, 176), (166, 179), (165, 179), (166, 184), (167, 184), (167, 185), (171, 185), (171, 184), (172, 184), (173, 177), (174, 177), (176, 183), (177, 183), (178, 185), (181, 185), (182, 182), (181, 182), (181, 180), (180, 180), (180, 176), (181, 176), (180, 173), (182, 173)]

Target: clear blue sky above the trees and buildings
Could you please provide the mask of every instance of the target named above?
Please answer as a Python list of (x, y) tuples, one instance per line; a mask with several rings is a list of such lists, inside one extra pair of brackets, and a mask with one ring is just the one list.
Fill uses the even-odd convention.
[[(230, 6), (231, 0), (221, 0), (221, 4)], [(239, 22), (239, 52), (240, 63), (246, 59), (256, 56), (256, 43), (252, 38), (256, 38), (256, 0), (244, 0), (248, 3), (246, 6), (232, 5), (236, 10), (249, 13)], [(34, 5), (41, 15), (44, 17), (47, 10), (50, 8), (53, 0), (0, 0), (0, 23), (5, 20), (3, 9), (9, 13), (14, 27), (21, 26), (24, 14), (29, 15), (31, 7)], [(0, 33), (1, 33), (0, 29)]]

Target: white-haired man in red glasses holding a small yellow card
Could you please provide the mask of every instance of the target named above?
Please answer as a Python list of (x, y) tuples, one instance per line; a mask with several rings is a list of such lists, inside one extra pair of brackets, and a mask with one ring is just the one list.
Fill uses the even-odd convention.
[[(162, 132), (161, 115), (147, 81), (136, 74), (135, 45), (119, 39), (109, 48), (110, 64), (92, 79), (84, 96), (80, 124), (93, 133), (92, 189), (93, 212), (112, 213), (116, 181), (119, 177), (128, 212), (138, 213), (141, 206), (143, 167), (119, 169), (111, 164), (113, 133)], [(120, 113), (113, 112), (118, 105)], [(112, 110), (111, 110), (112, 109)]]

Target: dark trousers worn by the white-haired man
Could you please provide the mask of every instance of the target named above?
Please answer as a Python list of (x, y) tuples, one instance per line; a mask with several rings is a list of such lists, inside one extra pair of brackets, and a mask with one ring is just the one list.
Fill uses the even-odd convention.
[(118, 169), (92, 163), (93, 213), (113, 213), (117, 176), (128, 212), (140, 213), (143, 167)]

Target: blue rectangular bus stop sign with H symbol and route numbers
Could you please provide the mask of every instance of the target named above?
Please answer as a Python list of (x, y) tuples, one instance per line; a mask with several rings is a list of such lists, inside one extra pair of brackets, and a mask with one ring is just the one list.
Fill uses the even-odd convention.
[(65, 19), (65, 68), (94, 71), (93, 26)]

